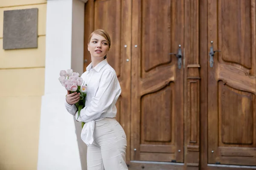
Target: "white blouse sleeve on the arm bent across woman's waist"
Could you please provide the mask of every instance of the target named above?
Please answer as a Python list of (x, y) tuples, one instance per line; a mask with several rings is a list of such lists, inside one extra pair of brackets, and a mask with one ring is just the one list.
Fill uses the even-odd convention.
[(90, 122), (99, 118), (102, 113), (105, 113), (116, 97), (116, 83), (119, 83), (116, 74), (113, 71), (105, 71), (102, 74), (98, 91), (95, 97), (92, 98), (90, 106), (84, 107), (79, 117), (77, 117), (78, 112), (76, 112), (76, 120), (79, 122)]

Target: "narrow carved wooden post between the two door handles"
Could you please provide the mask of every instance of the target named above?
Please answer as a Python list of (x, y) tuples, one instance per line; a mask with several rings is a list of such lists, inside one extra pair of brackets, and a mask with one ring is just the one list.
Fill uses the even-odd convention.
[(199, 166), (200, 148), (200, 89), (201, 61), (199, 59), (199, 0), (185, 0), (184, 26), (184, 145), (185, 166)]

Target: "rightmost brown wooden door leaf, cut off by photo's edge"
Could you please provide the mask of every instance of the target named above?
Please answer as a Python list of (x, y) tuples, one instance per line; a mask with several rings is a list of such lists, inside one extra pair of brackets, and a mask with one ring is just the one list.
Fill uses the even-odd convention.
[[(255, 0), (208, 0), (208, 163), (256, 165)], [(211, 67), (211, 65), (213, 65)]]

